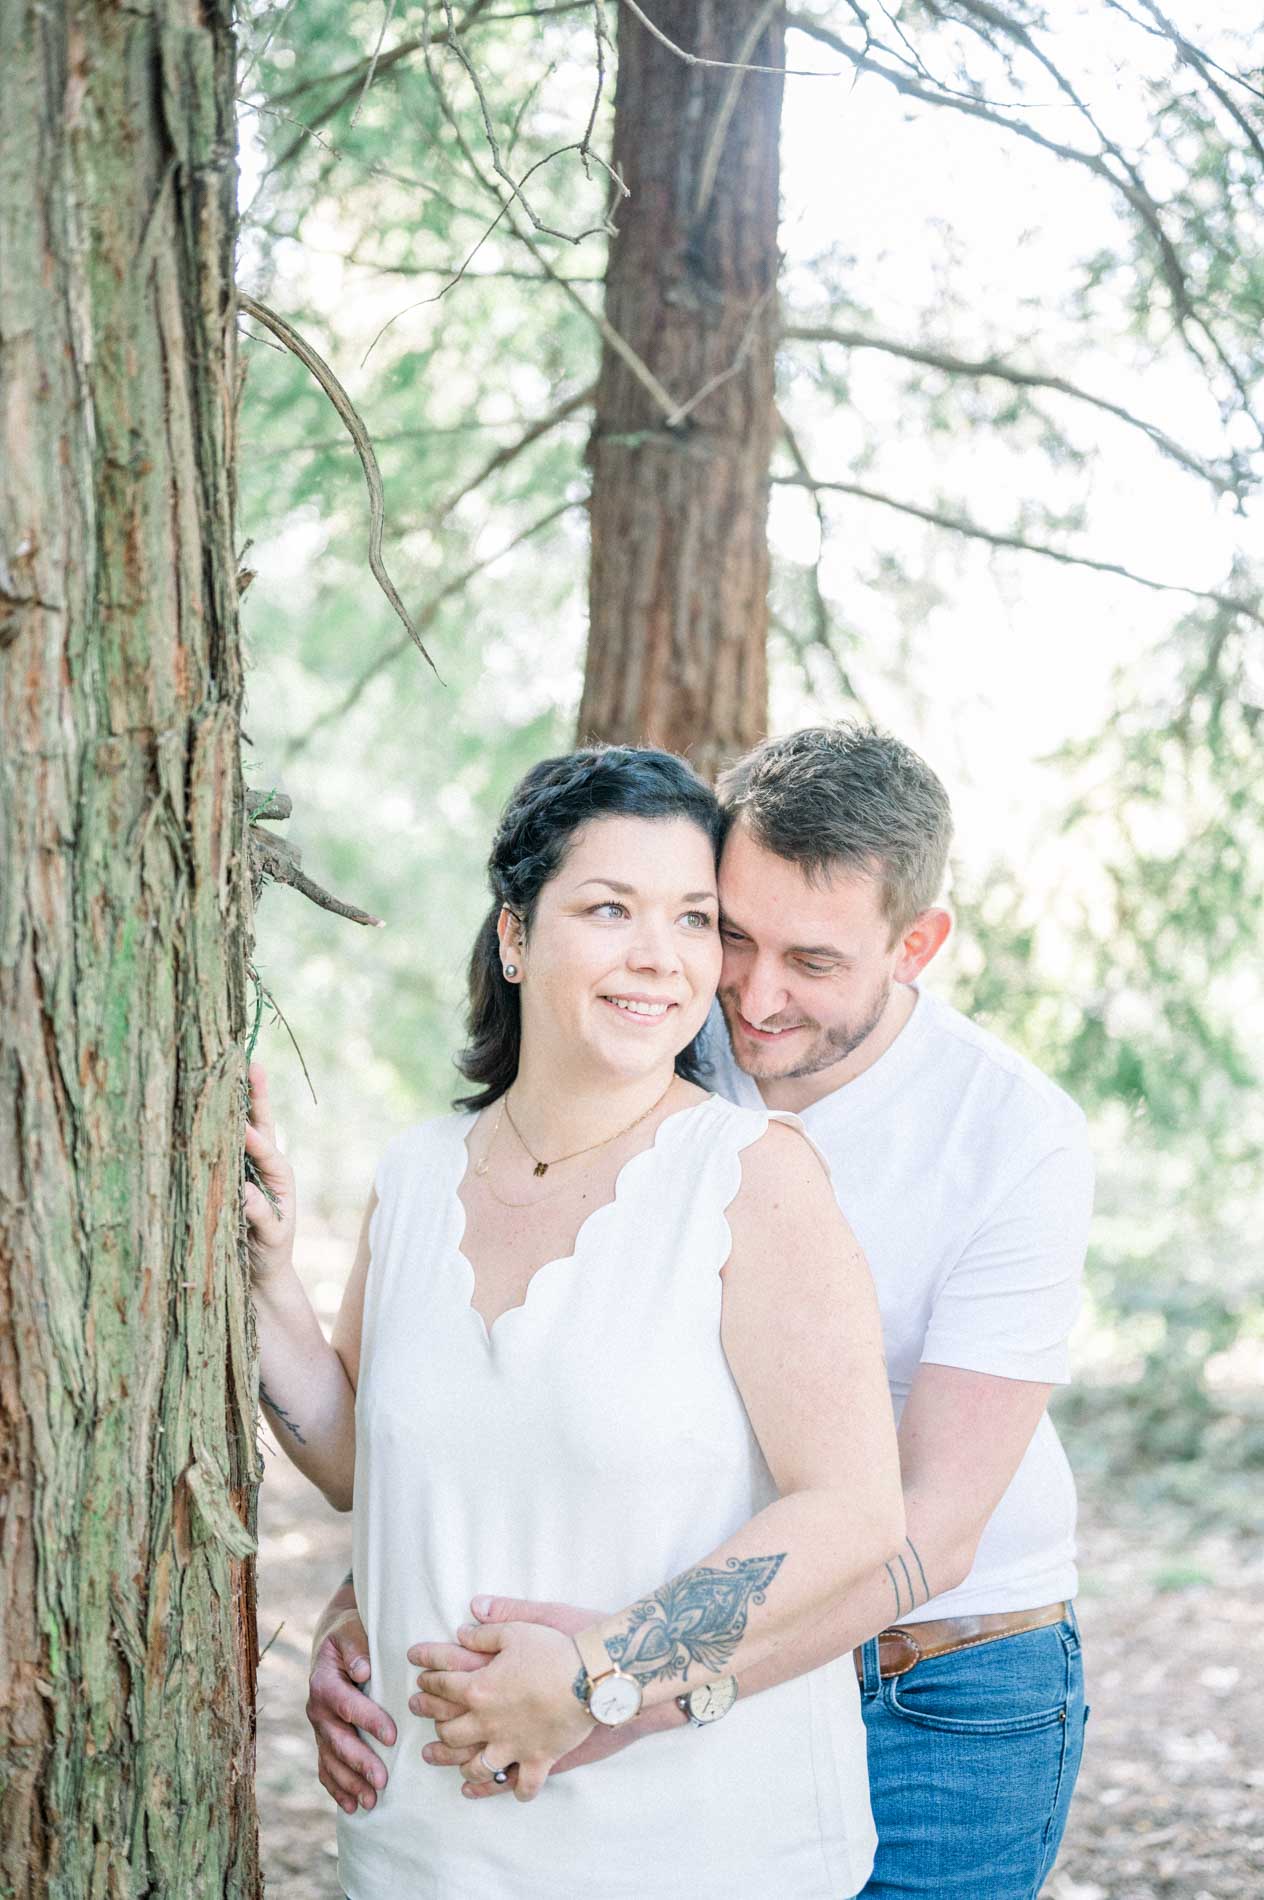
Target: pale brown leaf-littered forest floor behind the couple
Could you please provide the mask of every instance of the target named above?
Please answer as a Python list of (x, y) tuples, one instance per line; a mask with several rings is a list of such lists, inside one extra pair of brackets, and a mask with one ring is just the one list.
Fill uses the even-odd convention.
[[(312, 1275), (327, 1307), (331, 1279)], [(323, 1317), (331, 1317), (323, 1313)], [(350, 1566), (350, 1516), (266, 1450), (260, 1497), (259, 1805), (268, 1900), (340, 1900), (335, 1807), (304, 1718), (316, 1617)], [(1072, 1448), (1074, 1455), (1074, 1448)], [(1175, 1503), (1089, 1484), (1080, 1626), (1093, 1716), (1042, 1900), (1264, 1896), (1264, 1552)], [(475, 1896), (471, 1896), (475, 1900)], [(986, 1890), (979, 1900), (990, 1900)]]

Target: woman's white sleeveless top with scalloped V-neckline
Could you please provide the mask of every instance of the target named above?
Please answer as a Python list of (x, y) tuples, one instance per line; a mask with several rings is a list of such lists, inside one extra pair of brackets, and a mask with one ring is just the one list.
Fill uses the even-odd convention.
[[(492, 1326), (460, 1250), (473, 1115), (378, 1167), (355, 1395), (355, 1594), (369, 1693), (399, 1740), (373, 1809), (338, 1811), (350, 1900), (844, 1900), (874, 1830), (850, 1657), (718, 1723), (646, 1737), (532, 1803), (469, 1801), (422, 1761), (411, 1644), (475, 1592), (614, 1611), (777, 1493), (720, 1345), (724, 1212), (772, 1115), (707, 1096), (622, 1168), (574, 1252)], [(795, 1123), (798, 1127), (798, 1123)], [(840, 1526), (846, 1533), (846, 1526)]]

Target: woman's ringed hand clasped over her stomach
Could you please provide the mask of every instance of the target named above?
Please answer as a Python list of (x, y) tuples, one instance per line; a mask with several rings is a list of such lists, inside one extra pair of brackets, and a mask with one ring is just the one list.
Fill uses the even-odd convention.
[(409, 1708), (435, 1723), (443, 1759), (475, 1786), (492, 1778), (490, 1769), (517, 1763), (519, 1801), (534, 1801), (553, 1763), (595, 1727), (574, 1695), (576, 1647), (544, 1624), (469, 1623), (456, 1644), (414, 1644), (409, 1662), (420, 1672)]

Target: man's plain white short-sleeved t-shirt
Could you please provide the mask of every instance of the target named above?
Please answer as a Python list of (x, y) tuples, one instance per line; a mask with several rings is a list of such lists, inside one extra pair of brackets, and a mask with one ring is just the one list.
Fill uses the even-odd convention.
[[(718, 1007), (707, 1077), (760, 1108)], [(891, 1047), (802, 1110), (878, 1288), (899, 1417), (924, 1362), (1064, 1385), (1093, 1203), (1083, 1113), (996, 1036), (918, 990)], [(1076, 1486), (1047, 1414), (964, 1583), (901, 1615), (1034, 1609), (1076, 1594)]]

